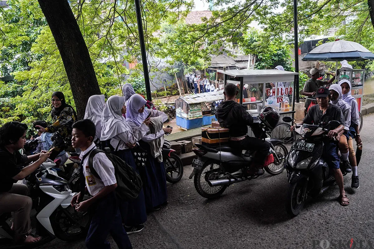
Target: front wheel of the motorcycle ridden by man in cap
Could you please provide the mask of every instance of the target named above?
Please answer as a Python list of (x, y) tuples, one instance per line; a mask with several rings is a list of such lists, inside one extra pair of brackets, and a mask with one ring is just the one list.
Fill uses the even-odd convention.
[(300, 214), (304, 207), (306, 198), (302, 200), (303, 187), (306, 184), (305, 179), (298, 180), (295, 183), (288, 184), (286, 195), (286, 211), (291, 217)]

